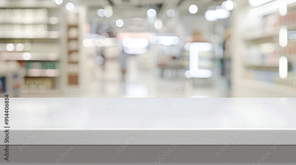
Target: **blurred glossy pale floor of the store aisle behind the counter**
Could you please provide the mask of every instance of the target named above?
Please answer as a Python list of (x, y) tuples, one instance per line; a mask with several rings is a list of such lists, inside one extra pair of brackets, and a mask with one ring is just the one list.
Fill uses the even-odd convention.
[[(156, 68), (139, 69), (136, 60), (136, 57), (128, 59), (124, 79), (119, 62), (117, 60), (107, 60), (104, 70), (99, 67), (99, 76), (92, 81), (89, 80), (89, 83), (83, 83), (85, 88), (75, 97), (220, 97), (227, 90), (225, 80), (215, 72), (213, 75), (215, 79), (212, 78), (206, 81), (211, 82), (211, 85), (209, 85), (204, 84), (202, 80), (195, 79), (191, 81), (184, 76), (175, 78), (160, 77), (159, 70)], [(70, 98), (76, 95), (75, 91), (77, 90), (80, 91), (78, 88), (73, 88), (60, 93), (30, 93), (27, 96)]]

